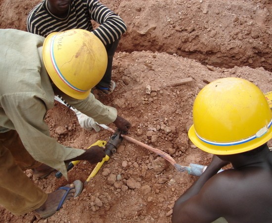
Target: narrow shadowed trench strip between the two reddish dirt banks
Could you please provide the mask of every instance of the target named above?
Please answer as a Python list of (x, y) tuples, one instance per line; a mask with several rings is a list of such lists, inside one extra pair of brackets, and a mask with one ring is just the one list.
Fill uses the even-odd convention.
[[(134, 39), (134, 40), (133, 40)], [(271, 49), (256, 49), (251, 54), (246, 53), (246, 46), (226, 51), (224, 53), (216, 51), (216, 49), (206, 50), (190, 50), (190, 47), (183, 46), (182, 49), (175, 41), (167, 41), (163, 45), (161, 40), (154, 40), (144, 36), (138, 39), (133, 38), (132, 34), (125, 35), (118, 48), (121, 52), (132, 53), (134, 51), (151, 51), (153, 53), (176, 54), (190, 59), (197, 60), (204, 65), (210, 65), (219, 68), (233, 68), (234, 66), (249, 66), (251, 68), (263, 67), (265, 70), (272, 72)], [(176, 44), (176, 45), (175, 45)], [(208, 44), (208, 43), (207, 43)], [(246, 44), (246, 43), (245, 43)], [(262, 51), (262, 52), (261, 52)]]

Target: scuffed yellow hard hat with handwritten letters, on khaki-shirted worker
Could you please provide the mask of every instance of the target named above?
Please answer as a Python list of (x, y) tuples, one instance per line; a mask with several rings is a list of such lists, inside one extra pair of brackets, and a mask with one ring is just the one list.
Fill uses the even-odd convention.
[(50, 78), (62, 92), (85, 99), (104, 76), (107, 52), (93, 33), (71, 29), (45, 38), (43, 60)]

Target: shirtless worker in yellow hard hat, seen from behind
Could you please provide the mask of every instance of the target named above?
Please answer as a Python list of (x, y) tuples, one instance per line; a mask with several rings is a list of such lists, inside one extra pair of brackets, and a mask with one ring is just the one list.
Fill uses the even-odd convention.
[[(240, 78), (211, 82), (193, 105), (190, 140), (214, 154), (176, 201), (173, 223), (272, 222), (272, 111), (261, 90)], [(217, 173), (231, 163), (233, 169)]]

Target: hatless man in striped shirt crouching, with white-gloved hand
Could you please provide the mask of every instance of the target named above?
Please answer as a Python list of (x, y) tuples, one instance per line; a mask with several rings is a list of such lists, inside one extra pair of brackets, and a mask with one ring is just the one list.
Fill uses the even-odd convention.
[[(99, 24), (95, 30), (91, 20)], [(116, 87), (111, 79), (113, 56), (121, 36), (127, 31), (123, 19), (98, 0), (43, 0), (30, 11), (27, 18), (28, 32), (43, 37), (52, 32), (69, 29), (88, 30), (105, 45), (108, 56), (107, 69), (95, 88), (105, 94), (112, 93)], [(64, 101), (64, 104), (67, 103)], [(100, 130), (92, 118), (80, 111), (75, 112), (81, 127)]]

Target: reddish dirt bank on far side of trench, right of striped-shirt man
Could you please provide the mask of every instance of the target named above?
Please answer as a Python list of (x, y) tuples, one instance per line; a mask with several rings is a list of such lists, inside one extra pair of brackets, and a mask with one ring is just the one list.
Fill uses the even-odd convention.
[(117, 11), (128, 26), (120, 51), (166, 52), (214, 67), (272, 71), (269, 0), (119, 2)]

